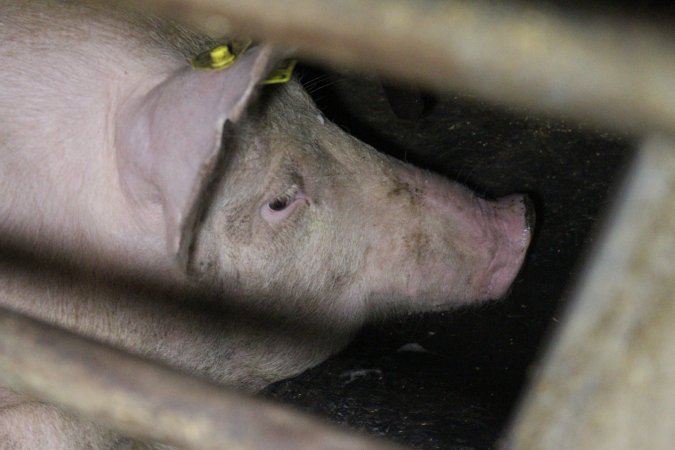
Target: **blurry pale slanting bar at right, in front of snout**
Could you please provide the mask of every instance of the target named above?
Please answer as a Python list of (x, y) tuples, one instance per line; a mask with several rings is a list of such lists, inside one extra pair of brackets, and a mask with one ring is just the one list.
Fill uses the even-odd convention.
[(675, 443), (675, 141), (649, 140), (506, 448)]

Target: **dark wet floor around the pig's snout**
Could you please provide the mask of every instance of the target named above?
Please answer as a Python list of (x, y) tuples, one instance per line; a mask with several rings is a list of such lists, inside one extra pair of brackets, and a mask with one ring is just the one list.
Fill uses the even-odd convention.
[(529, 193), (537, 231), (501, 302), (364, 330), (345, 352), (266, 395), (420, 449), (489, 449), (536, 361), (634, 142), (572, 122), (377, 80), (303, 82), (326, 115), (377, 149), (486, 196)]

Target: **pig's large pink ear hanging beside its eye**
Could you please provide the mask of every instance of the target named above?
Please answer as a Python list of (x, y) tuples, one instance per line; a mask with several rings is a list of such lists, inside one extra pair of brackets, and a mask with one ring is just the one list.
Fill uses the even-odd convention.
[(258, 47), (226, 70), (185, 67), (130, 98), (118, 112), (122, 189), (138, 214), (161, 204), (167, 249), (179, 261), (192, 240), (200, 192), (218, 158), (223, 126), (242, 116), (276, 60), (271, 47)]

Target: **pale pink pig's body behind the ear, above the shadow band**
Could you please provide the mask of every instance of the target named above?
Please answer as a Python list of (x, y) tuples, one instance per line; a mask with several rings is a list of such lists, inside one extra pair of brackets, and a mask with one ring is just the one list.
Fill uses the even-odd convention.
[(119, 186), (115, 111), (206, 41), (88, 1), (0, 0), (0, 239), (57, 251), (157, 246)]

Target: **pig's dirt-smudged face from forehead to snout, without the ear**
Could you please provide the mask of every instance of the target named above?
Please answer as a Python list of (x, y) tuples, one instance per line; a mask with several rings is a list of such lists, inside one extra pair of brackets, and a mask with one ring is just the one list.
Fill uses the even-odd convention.
[(498, 202), (373, 150), (295, 84), (224, 133), (191, 270), (267, 311), (361, 322), (504, 294), (529, 243)]

